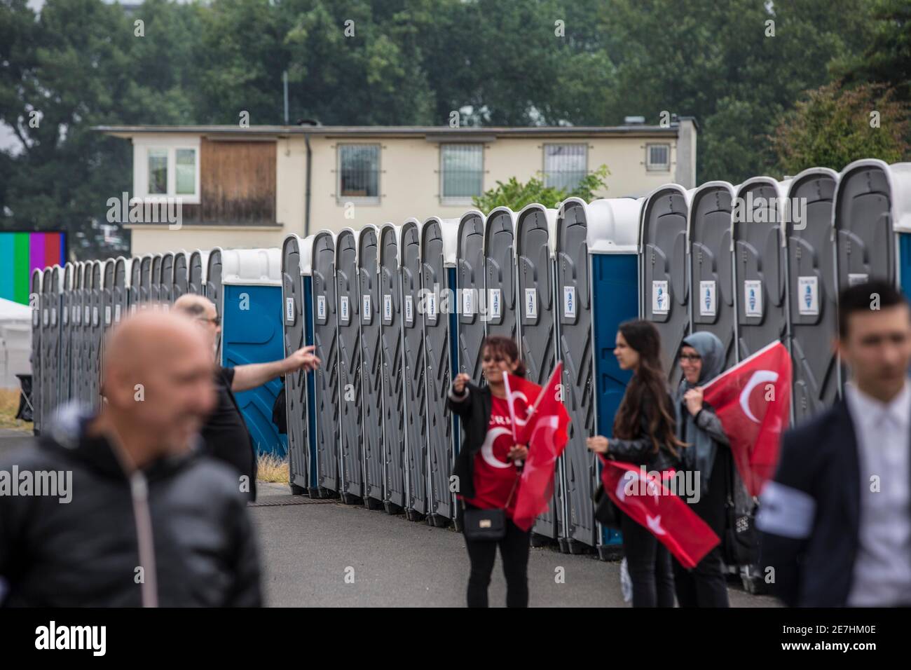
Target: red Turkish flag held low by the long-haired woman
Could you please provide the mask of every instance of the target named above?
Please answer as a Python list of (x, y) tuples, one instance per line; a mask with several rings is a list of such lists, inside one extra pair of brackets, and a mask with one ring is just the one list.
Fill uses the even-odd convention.
[(605, 459), (601, 481), (610, 500), (648, 529), (684, 568), (694, 568), (720, 542), (709, 524), (672, 493), (657, 473), (632, 463)]

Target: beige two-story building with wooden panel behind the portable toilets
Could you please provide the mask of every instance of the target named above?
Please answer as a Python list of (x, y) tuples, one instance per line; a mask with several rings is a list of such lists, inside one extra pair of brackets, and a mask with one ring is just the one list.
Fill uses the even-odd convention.
[(133, 144), (129, 198), (179, 203), (179, 225), (164, 216), (118, 220), (132, 231), (134, 254), (281, 246), (291, 232), (458, 217), (497, 181), (537, 177), (571, 190), (601, 165), (610, 171), (606, 191), (598, 193), (603, 197), (641, 196), (669, 181), (696, 184), (691, 118), (674, 119), (666, 128), (630, 122), (604, 128), (97, 130)]

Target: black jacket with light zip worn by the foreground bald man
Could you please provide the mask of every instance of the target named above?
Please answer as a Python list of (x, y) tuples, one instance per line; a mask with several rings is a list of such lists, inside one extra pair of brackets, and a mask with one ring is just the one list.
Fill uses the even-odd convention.
[[(0, 496), (2, 604), (139, 606), (142, 566), (145, 582), (157, 582), (159, 606), (261, 605), (251, 521), (230, 468), (193, 453), (156, 461), (141, 470), (144, 486), (140, 474), (131, 486), (107, 440), (86, 435), (88, 420), (63, 418), (35, 447), (0, 462), (20, 476), (72, 472), (69, 502)], [(153, 549), (142, 552), (145, 564), (143, 519), (151, 521), (143, 547)]]

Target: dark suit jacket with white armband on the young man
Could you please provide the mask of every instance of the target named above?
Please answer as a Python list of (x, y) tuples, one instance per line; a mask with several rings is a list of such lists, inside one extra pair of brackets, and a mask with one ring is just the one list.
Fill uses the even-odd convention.
[[(812, 498), (808, 531), (774, 531), (780, 522), (792, 523), (795, 511), (773, 501), (779, 490), (773, 483), (789, 497)], [(784, 434), (773, 483), (763, 490), (756, 520), (763, 531), (759, 564), (775, 570), (773, 593), (791, 606), (846, 605), (859, 548), (861, 484), (854, 422), (844, 399)]]

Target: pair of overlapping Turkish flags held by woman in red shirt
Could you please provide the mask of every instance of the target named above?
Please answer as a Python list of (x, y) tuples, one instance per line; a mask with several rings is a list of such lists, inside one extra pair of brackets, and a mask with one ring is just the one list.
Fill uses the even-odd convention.
[[(513, 522), (523, 531), (548, 509), (554, 493), (554, 469), (569, 439), (569, 413), (563, 406), (559, 386), (562, 372), (563, 364), (558, 363), (543, 388), (522, 377), (504, 377), (513, 437), (516, 444), (528, 445), (513, 513)], [(529, 398), (534, 398), (534, 404), (529, 405)]]

